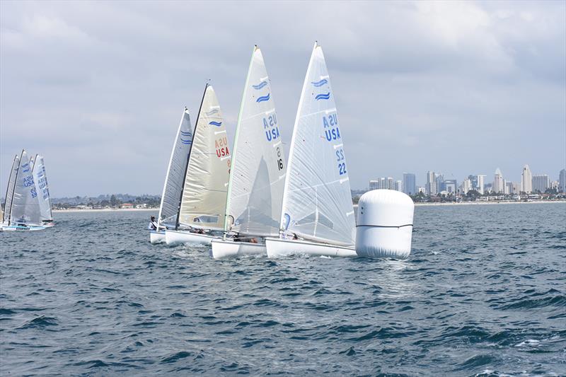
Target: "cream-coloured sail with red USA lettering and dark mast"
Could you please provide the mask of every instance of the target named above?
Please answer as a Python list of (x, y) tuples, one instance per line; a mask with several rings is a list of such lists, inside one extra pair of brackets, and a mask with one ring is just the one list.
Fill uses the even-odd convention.
[(179, 223), (222, 229), (231, 161), (224, 119), (212, 86), (204, 88), (194, 134)]

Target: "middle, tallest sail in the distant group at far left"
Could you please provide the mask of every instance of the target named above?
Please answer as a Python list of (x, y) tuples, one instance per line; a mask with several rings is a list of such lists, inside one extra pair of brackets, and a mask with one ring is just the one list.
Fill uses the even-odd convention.
[(22, 151), (13, 190), (10, 223), (41, 224), (40, 202), (33, 182), (28, 153)]

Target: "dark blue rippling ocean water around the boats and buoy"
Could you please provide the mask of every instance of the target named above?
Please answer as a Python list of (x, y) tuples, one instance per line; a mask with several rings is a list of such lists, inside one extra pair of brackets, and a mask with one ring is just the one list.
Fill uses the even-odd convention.
[(417, 207), (403, 261), (216, 261), (151, 214), (0, 234), (1, 375), (566, 375), (566, 204)]

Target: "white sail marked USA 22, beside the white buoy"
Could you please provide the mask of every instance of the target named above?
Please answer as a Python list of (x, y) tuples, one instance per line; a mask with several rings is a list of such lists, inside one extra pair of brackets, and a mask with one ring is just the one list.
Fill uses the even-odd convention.
[(342, 132), (322, 48), (315, 44), (299, 101), (281, 226), (306, 239), (354, 245), (355, 219)]

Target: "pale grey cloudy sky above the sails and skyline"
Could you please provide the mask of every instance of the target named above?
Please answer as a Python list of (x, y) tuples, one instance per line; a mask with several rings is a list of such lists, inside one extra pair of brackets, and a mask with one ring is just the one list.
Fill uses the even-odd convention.
[(161, 194), (211, 80), (233, 139), (253, 45), (289, 147), (323, 47), (352, 188), (427, 170), (555, 180), (566, 166), (566, 1), (0, 1), (0, 190), (22, 148), (53, 197)]

